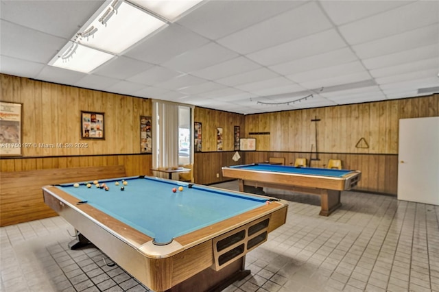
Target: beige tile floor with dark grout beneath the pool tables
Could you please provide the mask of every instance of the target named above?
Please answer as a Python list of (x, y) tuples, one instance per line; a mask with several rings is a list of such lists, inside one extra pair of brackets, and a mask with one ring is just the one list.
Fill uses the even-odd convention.
[[(439, 292), (439, 206), (344, 192), (342, 208), (322, 217), (319, 197), (276, 196), (291, 201), (287, 223), (225, 291)], [(69, 250), (69, 232), (60, 217), (0, 228), (0, 291), (149, 291), (95, 247)]]

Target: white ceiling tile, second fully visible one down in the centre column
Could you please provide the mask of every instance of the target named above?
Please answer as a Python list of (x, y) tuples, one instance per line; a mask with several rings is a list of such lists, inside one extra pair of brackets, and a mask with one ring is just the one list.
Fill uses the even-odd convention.
[(265, 66), (272, 66), (343, 47), (346, 47), (344, 40), (340, 38), (334, 29), (329, 29), (318, 34), (311, 34), (298, 40), (286, 42), (276, 47), (251, 53), (248, 55), (248, 58)]

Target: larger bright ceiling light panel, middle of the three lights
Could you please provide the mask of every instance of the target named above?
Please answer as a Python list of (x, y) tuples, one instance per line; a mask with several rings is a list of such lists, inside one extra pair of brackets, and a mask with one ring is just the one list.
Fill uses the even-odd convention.
[(80, 29), (77, 42), (110, 53), (121, 53), (163, 25), (161, 19), (121, 0), (106, 3)]

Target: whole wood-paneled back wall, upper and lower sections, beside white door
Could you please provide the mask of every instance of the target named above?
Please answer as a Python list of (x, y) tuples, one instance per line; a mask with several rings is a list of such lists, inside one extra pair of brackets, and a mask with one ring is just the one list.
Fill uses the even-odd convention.
[[(398, 184), (399, 119), (439, 116), (439, 95), (377, 101), (367, 104), (250, 114), (246, 131), (253, 135), (257, 152), (246, 152), (246, 163), (285, 157), (287, 165), (316, 151), (324, 167), (329, 159), (341, 159), (343, 168), (362, 172), (359, 190), (396, 195)], [(311, 119), (320, 119), (311, 122)], [(316, 143), (317, 126), (317, 143)], [(248, 135), (252, 136), (252, 135)], [(368, 148), (355, 147), (364, 138)], [(359, 146), (365, 146), (364, 141)], [(316, 155), (313, 154), (313, 158)]]

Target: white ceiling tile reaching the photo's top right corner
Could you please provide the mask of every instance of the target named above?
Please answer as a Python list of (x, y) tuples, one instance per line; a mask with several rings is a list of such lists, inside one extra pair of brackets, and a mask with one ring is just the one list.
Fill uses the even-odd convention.
[[(351, 45), (370, 42), (438, 23), (439, 1), (416, 1), (400, 8), (340, 26)], [(392, 19), (392, 21), (389, 21)], [(361, 31), (361, 34), (358, 32)]]

